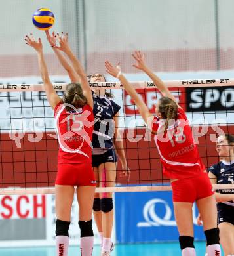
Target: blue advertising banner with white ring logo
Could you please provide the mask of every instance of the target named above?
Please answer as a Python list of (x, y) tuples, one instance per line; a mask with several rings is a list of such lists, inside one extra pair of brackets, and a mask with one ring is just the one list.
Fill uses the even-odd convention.
[[(116, 239), (119, 243), (177, 241), (172, 192), (128, 192), (115, 195)], [(195, 240), (205, 240), (197, 226), (193, 207)]]

